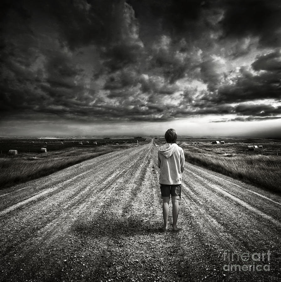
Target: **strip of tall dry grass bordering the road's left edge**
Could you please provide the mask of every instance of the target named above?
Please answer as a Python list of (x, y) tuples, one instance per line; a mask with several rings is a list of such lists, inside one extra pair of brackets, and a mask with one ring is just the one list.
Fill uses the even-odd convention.
[(0, 158), (0, 189), (28, 180), (50, 175), (84, 160), (131, 146), (104, 146), (95, 149), (81, 149), (42, 158)]

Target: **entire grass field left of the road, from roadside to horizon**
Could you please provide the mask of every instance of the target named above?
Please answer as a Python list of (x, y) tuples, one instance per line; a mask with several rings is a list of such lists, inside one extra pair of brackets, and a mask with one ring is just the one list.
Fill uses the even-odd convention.
[[(28, 151), (26, 152), (26, 148), (30, 148), (30, 145), (33, 145), (33, 143), (27, 143), (27, 141), (19, 142), (15, 140), (5, 140), (4, 142), (2, 142), (2, 145), (5, 144), (5, 146), (7, 146), (8, 148), (18, 149), (19, 153), (22, 153), (22, 155), (20, 155), (18, 158), (0, 158), (0, 189), (23, 183), (31, 179), (36, 179), (42, 176), (49, 175), (58, 170), (62, 170), (68, 166), (80, 163), (87, 159), (94, 158), (101, 154), (107, 154), (112, 151), (127, 149), (136, 146), (136, 144), (133, 142), (135, 140), (131, 140), (131, 143), (121, 143), (121, 140), (111, 141), (115, 145), (112, 145), (109, 142), (105, 142), (105, 144), (109, 145), (100, 144), (93, 146), (92, 144), (87, 144), (88, 146), (85, 145), (84, 148), (81, 146), (83, 149), (66, 151), (65, 153), (59, 153), (54, 155), (42, 154), (42, 157), (34, 158), (34, 153), (29, 153)], [(118, 143), (116, 141), (119, 141), (120, 144), (116, 145), (116, 143)], [(146, 144), (147, 142), (149, 141), (145, 141), (145, 139), (140, 140), (139, 145)], [(20, 146), (19, 144), (22, 146)], [(68, 144), (63, 145), (68, 145), (68, 147), (65, 147), (65, 149), (67, 149), (71, 147), (71, 144), (72, 143), (69, 142)], [(62, 148), (56, 147), (59, 145), (61, 144), (51, 144), (49, 146), (53, 146), (53, 150), (55, 150), (54, 148), (56, 148), (57, 150), (62, 150)], [(36, 146), (37, 145), (35, 144), (34, 148), (36, 148)]]

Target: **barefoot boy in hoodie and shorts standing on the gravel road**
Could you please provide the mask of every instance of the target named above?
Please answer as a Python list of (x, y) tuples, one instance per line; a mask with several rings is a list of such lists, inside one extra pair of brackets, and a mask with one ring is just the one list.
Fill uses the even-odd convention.
[(158, 150), (158, 167), (160, 168), (159, 184), (163, 199), (164, 225), (160, 231), (168, 230), (168, 215), (170, 195), (172, 198), (173, 231), (180, 231), (177, 227), (179, 213), (179, 199), (181, 199), (181, 174), (184, 170), (183, 149), (176, 144), (176, 130), (170, 128), (165, 133), (166, 144)]

